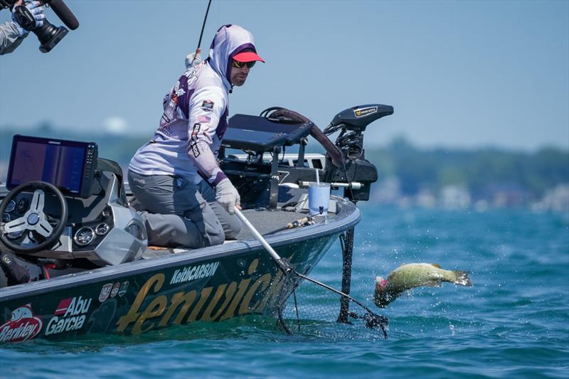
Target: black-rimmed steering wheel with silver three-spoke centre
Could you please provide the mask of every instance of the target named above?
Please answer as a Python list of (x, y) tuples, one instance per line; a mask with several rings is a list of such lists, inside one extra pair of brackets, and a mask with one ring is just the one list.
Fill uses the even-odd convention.
[[(14, 250), (14, 252), (21, 252), (23, 254), (48, 250), (59, 240), (61, 233), (63, 233), (63, 228), (65, 228), (65, 222), (68, 216), (67, 202), (63, 197), (63, 193), (61, 193), (57, 187), (53, 186), (53, 184), (46, 183), (45, 181), (31, 181), (17, 186), (6, 195), (0, 205), (0, 215), (4, 214), (10, 201), (14, 200), (24, 191), (33, 192), (29, 205), (30, 208), (26, 210), (26, 213), (24, 213), (21, 218), (16, 218), (16, 220), (11, 220), (8, 223), (0, 223), (0, 241), (9, 249)], [(55, 198), (58, 199), (60, 216), (58, 219), (55, 219), (57, 220), (55, 228), (49, 223), (46, 213), (43, 213), (43, 204), (46, 198), (44, 191), (55, 194)], [(51, 219), (53, 220), (53, 218)], [(23, 241), (12, 242), (9, 240), (9, 233), (26, 232), (26, 230), (36, 232), (45, 238), (45, 240), (33, 246), (24, 246)], [(27, 238), (23, 238), (22, 240), (26, 239)]]

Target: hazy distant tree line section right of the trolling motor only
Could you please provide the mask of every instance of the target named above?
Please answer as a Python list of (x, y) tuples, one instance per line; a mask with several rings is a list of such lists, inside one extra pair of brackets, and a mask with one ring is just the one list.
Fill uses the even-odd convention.
[(407, 194), (462, 184), (474, 198), (484, 198), (496, 187), (540, 198), (548, 189), (569, 183), (569, 151), (556, 148), (417, 149), (398, 138), (385, 148), (366, 150), (366, 159), (377, 166), (380, 178), (397, 177)]

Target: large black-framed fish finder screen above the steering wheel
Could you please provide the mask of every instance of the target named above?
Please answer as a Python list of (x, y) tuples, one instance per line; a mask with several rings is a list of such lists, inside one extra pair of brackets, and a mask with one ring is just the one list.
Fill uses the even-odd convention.
[[(6, 187), (46, 181), (70, 193), (80, 193), (86, 146), (49, 139), (14, 137)], [(75, 145), (75, 146), (74, 146)]]

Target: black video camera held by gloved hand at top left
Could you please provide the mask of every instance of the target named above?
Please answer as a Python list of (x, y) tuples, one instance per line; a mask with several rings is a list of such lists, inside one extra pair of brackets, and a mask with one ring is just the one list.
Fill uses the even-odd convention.
[[(0, 9), (9, 8), (11, 9), (16, 4), (17, 0), (0, 0)], [(65, 37), (68, 33), (68, 28), (75, 30), (79, 27), (79, 21), (65, 5), (63, 0), (43, 0), (42, 3), (49, 6), (56, 15), (60, 18), (65, 26), (54, 26), (50, 23), (47, 18), (43, 20), (43, 26), (36, 28), (36, 20), (34, 20), (33, 15), (26, 8), (26, 4), (29, 1), (23, 1), (22, 5), (16, 6), (14, 9), (14, 18), (16, 22), (26, 31), (33, 31), (38, 40), (40, 41), (40, 51), (42, 53), (48, 53), (51, 49), (55, 47)]]

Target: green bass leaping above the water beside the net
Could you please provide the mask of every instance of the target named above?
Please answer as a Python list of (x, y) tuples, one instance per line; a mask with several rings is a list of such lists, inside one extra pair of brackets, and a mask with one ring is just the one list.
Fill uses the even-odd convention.
[(415, 287), (440, 287), (442, 282), (472, 286), (468, 274), (467, 271), (442, 269), (432, 263), (400, 265), (388, 275), (387, 279), (376, 277), (376, 293), (373, 300), (376, 306), (383, 308), (397, 299), (402, 292)]

